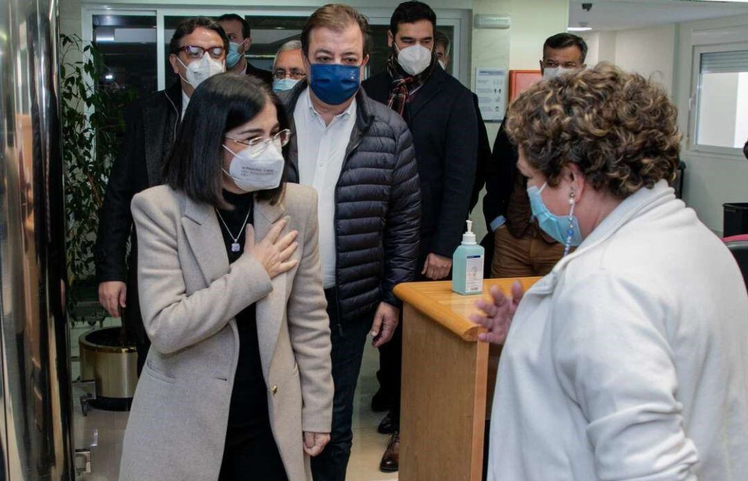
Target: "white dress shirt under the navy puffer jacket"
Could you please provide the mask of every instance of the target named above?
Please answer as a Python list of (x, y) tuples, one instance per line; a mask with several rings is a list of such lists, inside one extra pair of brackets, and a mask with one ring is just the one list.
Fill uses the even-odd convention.
[(356, 122), (356, 101), (329, 125), (314, 110), (309, 88), (298, 96), (293, 111), (298, 143), (298, 173), (302, 185), (319, 195), (319, 258), (322, 285), (335, 285), (335, 187), (346, 157), (346, 148)]

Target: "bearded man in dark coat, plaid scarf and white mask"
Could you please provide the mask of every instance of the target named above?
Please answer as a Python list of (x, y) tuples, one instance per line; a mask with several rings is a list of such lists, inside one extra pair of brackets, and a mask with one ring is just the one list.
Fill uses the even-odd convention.
[[(439, 66), (435, 28), (436, 14), (429, 5), (399, 4), (387, 32), (387, 69), (363, 84), (369, 96), (400, 114), (413, 134), (423, 199), (418, 280), (450, 276), (452, 255), (465, 230), (478, 152), (473, 94)], [(382, 471), (398, 469), (400, 332), (380, 348), (381, 388), (373, 400), (374, 409), (391, 407), (379, 427), (380, 432), (393, 432)]]

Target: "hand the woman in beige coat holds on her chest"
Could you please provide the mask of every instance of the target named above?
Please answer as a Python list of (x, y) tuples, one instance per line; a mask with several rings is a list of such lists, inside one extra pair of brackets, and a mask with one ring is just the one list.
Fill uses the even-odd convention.
[(263, 240), (257, 243), (254, 241), (254, 228), (247, 225), (244, 252), (254, 256), (260, 264), (263, 264), (270, 279), (291, 270), (298, 264), (298, 260), (291, 258), (298, 247), (298, 242), (295, 241), (298, 231), (291, 231), (281, 236), (287, 223), (287, 219), (279, 220), (273, 224)]

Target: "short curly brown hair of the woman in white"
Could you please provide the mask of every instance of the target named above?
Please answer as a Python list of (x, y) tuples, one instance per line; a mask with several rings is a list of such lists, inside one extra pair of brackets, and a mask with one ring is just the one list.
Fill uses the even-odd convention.
[(667, 93), (610, 63), (533, 85), (512, 103), (506, 133), (555, 186), (568, 163), (595, 190), (625, 199), (672, 181), (681, 134)]

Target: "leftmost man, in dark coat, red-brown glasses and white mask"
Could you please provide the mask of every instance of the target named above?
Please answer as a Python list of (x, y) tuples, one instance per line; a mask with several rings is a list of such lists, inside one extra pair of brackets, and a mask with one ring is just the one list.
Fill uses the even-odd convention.
[(227, 50), (228, 39), (215, 20), (198, 17), (180, 23), (169, 43), (169, 63), (180, 80), (133, 102), (124, 114), (125, 138), (109, 174), (94, 249), (99, 302), (111, 317), (120, 317), (123, 310), (123, 325), (138, 350), (138, 374), (150, 341), (138, 302), (138, 249), (130, 202), (141, 190), (161, 184), (162, 162), (190, 96), (200, 82), (224, 72)]

